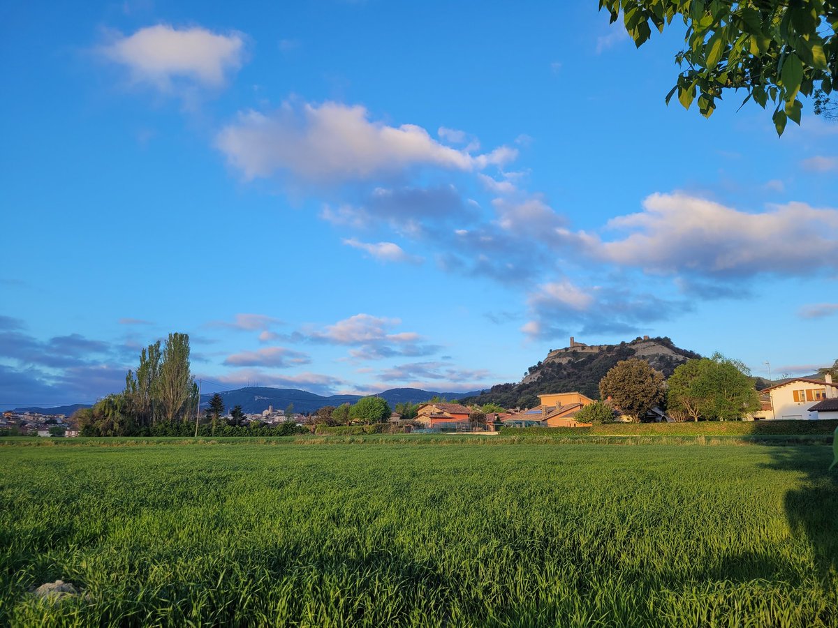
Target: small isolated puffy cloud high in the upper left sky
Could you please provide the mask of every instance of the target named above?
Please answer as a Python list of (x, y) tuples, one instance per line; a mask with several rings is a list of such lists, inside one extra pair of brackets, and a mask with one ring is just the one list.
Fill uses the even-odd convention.
[(157, 24), (130, 36), (120, 35), (99, 52), (125, 66), (137, 83), (169, 91), (181, 80), (219, 88), (241, 68), (245, 41), (241, 33), (219, 34), (205, 28)]

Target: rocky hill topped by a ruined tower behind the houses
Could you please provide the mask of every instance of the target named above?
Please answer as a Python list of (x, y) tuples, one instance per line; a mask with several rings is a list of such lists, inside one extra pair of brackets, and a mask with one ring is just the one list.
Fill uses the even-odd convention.
[(628, 358), (642, 358), (669, 377), (679, 364), (701, 356), (676, 347), (668, 337), (644, 336), (631, 342), (595, 345), (571, 337), (568, 347), (551, 349), (543, 361), (527, 369), (519, 383), (501, 383), (467, 400), (504, 408), (531, 408), (538, 404), (539, 394), (573, 390), (599, 399), (599, 380), (614, 364)]

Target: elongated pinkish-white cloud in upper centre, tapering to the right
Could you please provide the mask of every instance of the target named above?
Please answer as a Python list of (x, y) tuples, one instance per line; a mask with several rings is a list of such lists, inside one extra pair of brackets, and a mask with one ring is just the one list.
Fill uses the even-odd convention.
[(220, 131), (216, 145), (248, 179), (290, 172), (332, 183), (420, 166), (470, 172), (517, 156), (510, 147), (473, 155), (437, 142), (421, 126), (370, 121), (363, 106), (329, 101), (302, 107), (286, 103), (270, 114), (242, 112)]

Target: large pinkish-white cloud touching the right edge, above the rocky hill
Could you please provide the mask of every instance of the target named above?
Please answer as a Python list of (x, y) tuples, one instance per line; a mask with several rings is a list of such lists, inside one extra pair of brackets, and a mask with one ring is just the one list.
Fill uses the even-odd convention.
[(587, 239), (592, 255), (657, 273), (743, 277), (838, 267), (838, 210), (805, 203), (748, 214), (683, 193), (656, 193), (644, 211), (608, 221), (623, 239)]

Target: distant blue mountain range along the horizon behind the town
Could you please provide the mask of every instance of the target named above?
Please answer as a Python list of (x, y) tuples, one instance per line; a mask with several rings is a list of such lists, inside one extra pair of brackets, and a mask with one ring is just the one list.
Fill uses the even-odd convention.
[[(338, 406), (340, 404), (354, 404), (358, 399), (364, 395), (361, 394), (333, 394), (328, 397), (323, 395), (309, 393), (306, 390), (299, 389), (272, 389), (266, 387), (250, 386), (237, 390), (224, 390), (219, 393), (221, 399), (224, 399), (224, 407), (228, 411), (236, 405), (241, 405), (241, 409), (246, 414), (257, 414), (264, 412), (268, 406), (273, 406), (275, 410), (284, 410), (288, 404), (294, 404), (294, 412), (314, 412), (317, 409), (323, 408), (324, 405)], [(410, 402), (411, 404), (422, 404), (433, 397), (444, 397), (445, 399), (462, 399), (470, 395), (479, 394), (479, 391), (471, 393), (439, 393), (433, 390), (420, 389), (390, 389), (379, 393), (379, 397), (387, 400), (391, 408), (395, 408), (396, 404)], [(205, 408), (209, 404), (213, 393), (201, 395), (201, 407)], [(59, 405), (55, 408), (40, 408), (38, 406), (30, 406), (28, 408), (15, 408), (13, 412), (34, 412), (37, 414), (66, 414), (70, 416), (77, 409), (90, 408), (91, 404), (72, 404)]]

